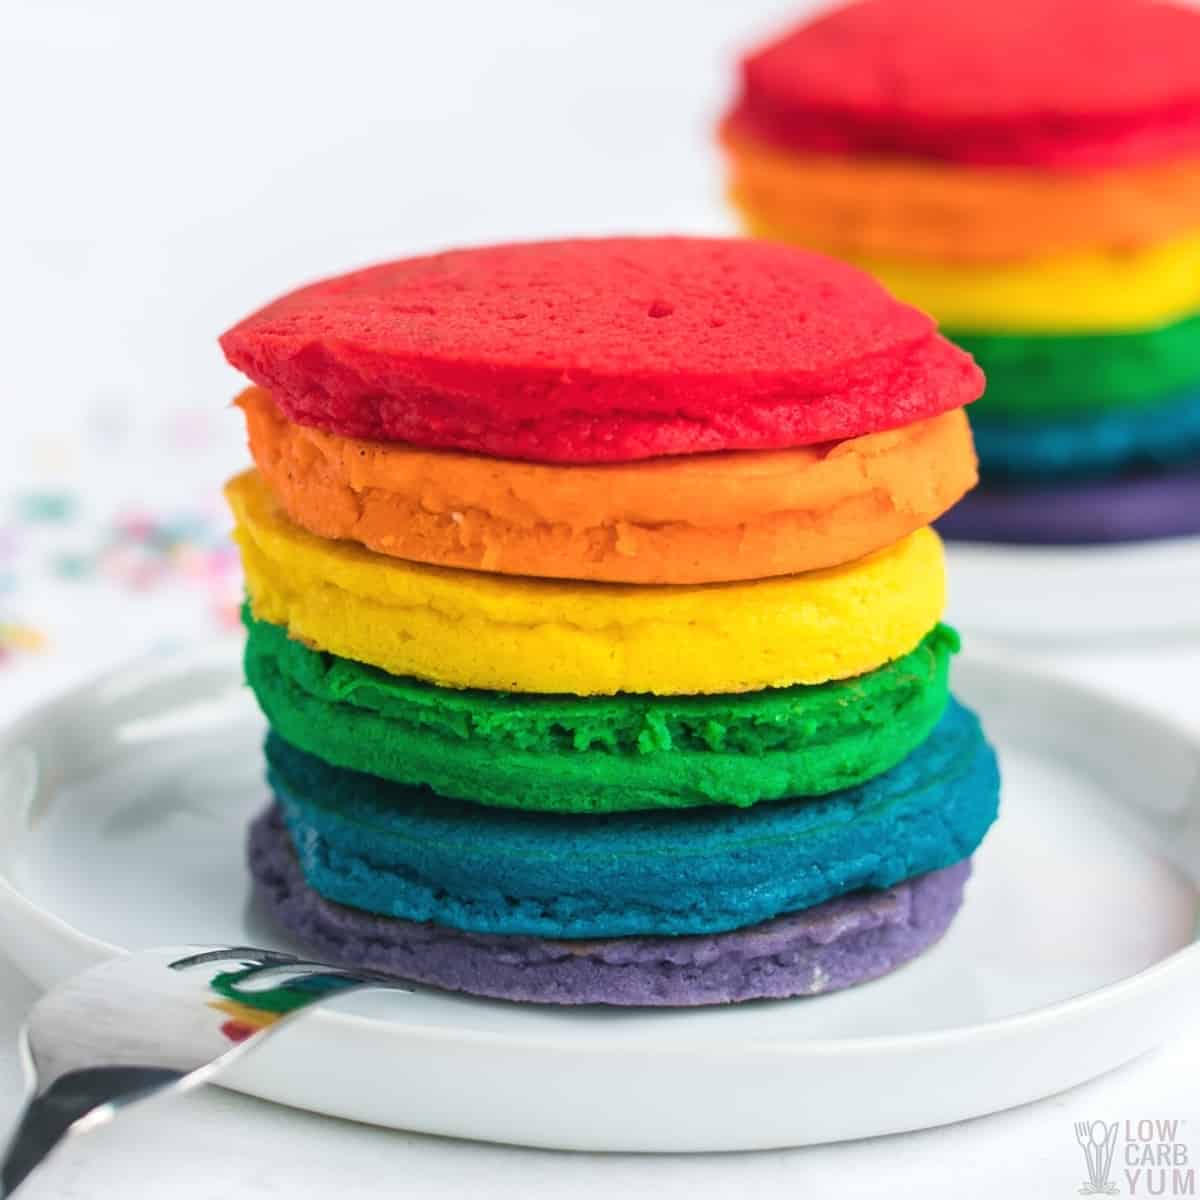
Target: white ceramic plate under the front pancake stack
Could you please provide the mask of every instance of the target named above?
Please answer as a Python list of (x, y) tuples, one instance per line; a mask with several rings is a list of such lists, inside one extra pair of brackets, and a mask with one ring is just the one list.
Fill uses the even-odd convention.
[[(247, 905), (260, 721), (230, 649), (128, 667), (0, 738), (0, 942), (43, 984), (120, 947), (287, 946)], [(1070, 1087), (1194, 1019), (1200, 749), (1022, 668), (958, 665), (1003, 816), (934, 950), (856, 990), (694, 1012), (346, 997), (245, 1092), (378, 1124), (587, 1150), (914, 1129)]]

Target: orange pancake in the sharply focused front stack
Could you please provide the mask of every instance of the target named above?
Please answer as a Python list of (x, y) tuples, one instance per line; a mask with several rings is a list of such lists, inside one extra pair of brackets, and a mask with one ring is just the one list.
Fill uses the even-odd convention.
[(966, 415), (780, 451), (556, 466), (295, 425), (238, 398), (288, 516), (416, 563), (610, 583), (718, 583), (818, 570), (926, 526), (976, 482)]

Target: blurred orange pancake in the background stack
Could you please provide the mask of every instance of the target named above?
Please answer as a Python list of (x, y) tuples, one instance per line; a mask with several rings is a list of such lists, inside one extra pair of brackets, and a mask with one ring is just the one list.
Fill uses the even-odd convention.
[(814, 250), (1009, 262), (1148, 246), (1200, 226), (1200, 160), (1103, 170), (775, 149), (726, 125), (738, 210)]

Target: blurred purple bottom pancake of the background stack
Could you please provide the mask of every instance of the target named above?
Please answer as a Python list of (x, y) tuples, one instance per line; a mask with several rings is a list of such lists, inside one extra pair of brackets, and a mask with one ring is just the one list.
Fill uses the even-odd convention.
[(1200, 533), (1200, 463), (1111, 479), (979, 488), (937, 529), (955, 541), (1080, 546)]

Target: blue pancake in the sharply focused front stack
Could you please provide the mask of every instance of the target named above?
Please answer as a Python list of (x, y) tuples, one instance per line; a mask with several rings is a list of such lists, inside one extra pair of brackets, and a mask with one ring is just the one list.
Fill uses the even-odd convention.
[(820, 799), (605, 816), (522, 812), (331, 767), (275, 734), (268, 775), (308, 886), (476, 934), (718, 934), (967, 858), (995, 820), (996, 757), (950, 702), (904, 762)]

